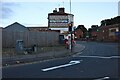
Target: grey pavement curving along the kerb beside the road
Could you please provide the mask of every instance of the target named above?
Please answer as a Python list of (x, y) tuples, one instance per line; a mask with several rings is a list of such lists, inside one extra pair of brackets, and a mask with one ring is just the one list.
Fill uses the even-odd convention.
[(54, 51), (35, 54), (35, 55), (27, 54), (27, 55), (19, 55), (19, 56), (2, 57), (2, 66), (5, 67), (11, 65), (32, 63), (36, 61), (46, 61), (51, 59), (64, 58), (82, 52), (84, 49), (85, 49), (84, 45), (76, 44), (73, 47), (72, 52), (71, 50), (64, 48), (61, 51), (54, 50)]

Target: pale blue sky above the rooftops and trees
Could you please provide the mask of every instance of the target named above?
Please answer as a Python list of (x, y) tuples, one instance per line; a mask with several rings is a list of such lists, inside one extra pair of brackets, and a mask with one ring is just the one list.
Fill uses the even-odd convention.
[[(0, 27), (6, 27), (19, 22), (26, 27), (48, 26), (48, 13), (55, 8), (64, 7), (70, 13), (69, 1), (19, 1), (4, 0), (0, 3)], [(74, 26), (84, 25), (87, 29), (91, 25), (100, 25), (101, 20), (118, 16), (118, 1), (77, 1), (71, 0), (71, 13), (74, 15)]]

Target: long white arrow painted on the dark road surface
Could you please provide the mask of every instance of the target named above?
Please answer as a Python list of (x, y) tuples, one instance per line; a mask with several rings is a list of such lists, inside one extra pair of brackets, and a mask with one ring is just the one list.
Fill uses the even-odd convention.
[[(80, 61), (82, 61), (82, 60), (80, 60)], [(62, 67), (67, 67), (67, 66), (79, 64), (80, 61), (70, 61), (68, 64), (64, 64), (64, 65), (60, 65), (60, 66), (55, 66), (55, 67), (51, 67), (51, 68), (45, 68), (45, 69), (41, 69), (41, 70), (42, 71), (50, 71), (50, 70), (54, 70), (54, 69), (58, 69), (58, 68), (62, 68)]]

